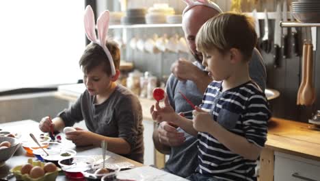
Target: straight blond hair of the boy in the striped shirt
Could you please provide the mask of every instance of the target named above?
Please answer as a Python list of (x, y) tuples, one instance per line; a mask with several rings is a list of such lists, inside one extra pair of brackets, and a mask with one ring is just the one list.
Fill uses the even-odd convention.
[(226, 53), (235, 48), (241, 51), (245, 60), (250, 60), (256, 41), (253, 19), (233, 12), (225, 12), (209, 19), (196, 36), (198, 51), (216, 48), (220, 53)]

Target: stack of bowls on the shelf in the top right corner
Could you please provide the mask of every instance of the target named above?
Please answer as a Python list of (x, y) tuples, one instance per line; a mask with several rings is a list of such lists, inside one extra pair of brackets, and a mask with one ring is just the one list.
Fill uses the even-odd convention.
[(291, 3), (292, 15), (301, 23), (320, 23), (320, 1), (299, 0)]

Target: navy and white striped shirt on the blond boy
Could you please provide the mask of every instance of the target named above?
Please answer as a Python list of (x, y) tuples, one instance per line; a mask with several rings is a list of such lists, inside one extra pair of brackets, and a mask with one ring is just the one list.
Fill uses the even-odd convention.
[[(222, 82), (211, 82), (202, 99), (201, 108), (226, 130), (243, 136), (250, 143), (264, 147), (267, 121), (271, 117), (265, 94), (252, 81), (226, 90)], [(256, 160), (248, 160), (206, 132), (198, 133), (198, 173), (221, 180), (256, 180)]]

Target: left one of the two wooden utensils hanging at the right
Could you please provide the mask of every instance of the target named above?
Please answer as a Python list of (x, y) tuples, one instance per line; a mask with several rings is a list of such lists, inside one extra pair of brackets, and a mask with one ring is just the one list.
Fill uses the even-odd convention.
[(306, 85), (306, 67), (307, 67), (307, 58), (308, 58), (308, 47), (309, 47), (309, 44), (305, 40), (304, 47), (302, 49), (302, 76), (301, 76), (300, 86), (297, 92), (297, 105), (304, 104), (304, 97), (302, 97), (302, 90)]

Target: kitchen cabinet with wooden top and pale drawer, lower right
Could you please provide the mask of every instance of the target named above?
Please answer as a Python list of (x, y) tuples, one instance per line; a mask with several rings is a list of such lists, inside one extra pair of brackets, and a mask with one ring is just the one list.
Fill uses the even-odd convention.
[(313, 125), (272, 117), (261, 153), (261, 181), (320, 180), (320, 132)]

